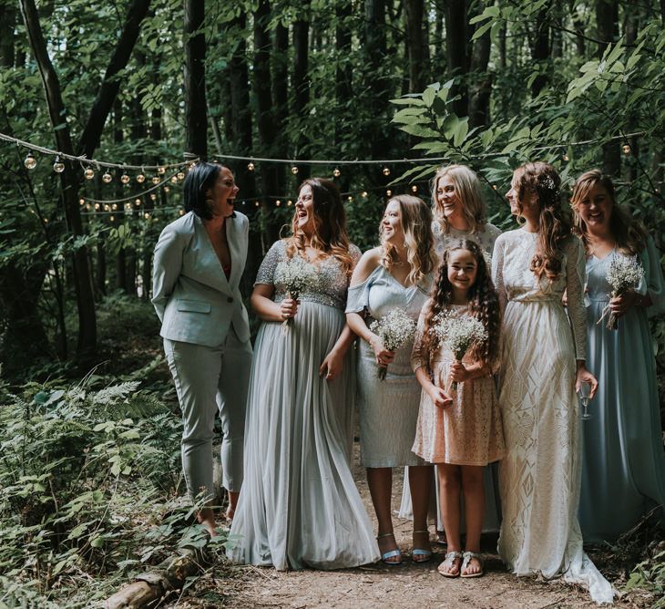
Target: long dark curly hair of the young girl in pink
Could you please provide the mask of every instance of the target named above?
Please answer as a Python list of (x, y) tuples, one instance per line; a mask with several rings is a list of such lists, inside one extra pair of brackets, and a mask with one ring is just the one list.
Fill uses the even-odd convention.
[(476, 281), (469, 287), (468, 292), (469, 314), (482, 322), (487, 331), (487, 340), (481, 345), (474, 346), (470, 355), (476, 361), (491, 368), (496, 367), (498, 363), (501, 313), (498, 295), (487, 268), (485, 255), (476, 242), (470, 239), (457, 239), (444, 252), (426, 309), (423, 350), (426, 354), (429, 375), (432, 375), (434, 371), (434, 360), (440, 347), (438, 337), (431, 330), (436, 315), (443, 313), (452, 305), (453, 286), (448, 279), (448, 261), (450, 254), (457, 250), (466, 250), (476, 260)]

